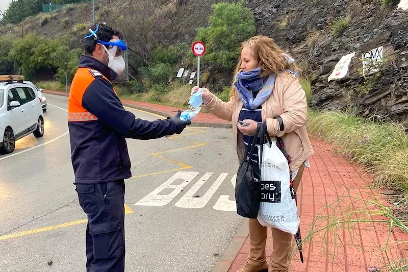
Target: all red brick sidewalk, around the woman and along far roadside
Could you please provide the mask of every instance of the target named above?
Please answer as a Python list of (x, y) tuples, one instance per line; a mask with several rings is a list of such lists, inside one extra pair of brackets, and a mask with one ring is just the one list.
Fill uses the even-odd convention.
[[(45, 93), (65, 95), (63, 92), (44, 90)], [(177, 108), (154, 105), (144, 102), (122, 100), (124, 105), (138, 107), (160, 115), (173, 116)], [(230, 122), (221, 120), (213, 115), (200, 113), (195, 123), (217, 126), (229, 125)], [(301, 232), (303, 238), (310, 230), (325, 227), (328, 221), (340, 217), (345, 213), (356, 210), (378, 209), (368, 205), (366, 201), (379, 199), (387, 203), (378, 190), (370, 189), (372, 178), (359, 166), (350, 164), (346, 159), (332, 154), (330, 146), (322, 141), (312, 140), (315, 154), (310, 158), (311, 168), (306, 168), (303, 174), (301, 187), (298, 191), (298, 206)], [(360, 199), (359, 199), (360, 197)], [(333, 204), (334, 203), (334, 204)], [(331, 206), (329, 208), (328, 205)], [(356, 216), (343, 218), (353, 220)], [(367, 219), (367, 218), (365, 218)], [(381, 216), (371, 219), (384, 220)], [(359, 222), (358, 224), (341, 225), (329, 233), (318, 232), (313, 238), (306, 239), (303, 245), (304, 263), (300, 262), (298, 252), (292, 261), (291, 272), (321, 272), (321, 271), (366, 271), (368, 267), (382, 267), (386, 263), (384, 253), (388, 240), (390, 225), (384, 223)], [(270, 230), (267, 241), (267, 256), (270, 263), (272, 258), (272, 239)], [(243, 235), (243, 236), (242, 236)], [(241, 244), (244, 241), (243, 244)], [(391, 262), (401, 256), (406, 257), (408, 252), (408, 235), (394, 228), (387, 245), (388, 259)], [(405, 243), (400, 243), (405, 241)], [(249, 238), (247, 232), (237, 234), (232, 245), (239, 246), (231, 256), (225, 253), (213, 272), (236, 272), (245, 265), (249, 253)], [(231, 246), (230, 246), (231, 248)], [(222, 267), (221, 269), (219, 267)], [(385, 270), (380, 270), (385, 271)], [(405, 269), (404, 271), (408, 271)]]

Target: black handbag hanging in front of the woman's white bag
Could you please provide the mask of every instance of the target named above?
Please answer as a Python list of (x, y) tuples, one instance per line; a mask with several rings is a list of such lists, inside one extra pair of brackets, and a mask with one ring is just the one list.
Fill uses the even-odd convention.
[[(261, 142), (259, 146), (259, 148), (261, 149), (261, 158), (259, 158), (259, 164), (251, 160), (252, 154), (254, 153), (256, 147), (258, 135), (261, 136)], [(264, 143), (264, 127), (261, 124), (258, 124), (257, 132), (253, 137), (252, 143), (250, 145), (248, 144), (244, 158), (239, 165), (237, 181), (235, 185), (235, 201), (237, 203), (237, 213), (243, 217), (258, 217), (258, 211), (261, 203), (261, 171), (259, 165), (262, 165), (262, 152)]]

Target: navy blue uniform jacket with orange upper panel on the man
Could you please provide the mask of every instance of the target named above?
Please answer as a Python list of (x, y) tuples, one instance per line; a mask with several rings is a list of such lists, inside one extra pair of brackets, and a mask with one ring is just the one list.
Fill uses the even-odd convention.
[(175, 133), (171, 119), (146, 121), (126, 111), (110, 82), (116, 73), (81, 56), (71, 83), (68, 127), (75, 183), (103, 183), (132, 176), (125, 138), (154, 139)]

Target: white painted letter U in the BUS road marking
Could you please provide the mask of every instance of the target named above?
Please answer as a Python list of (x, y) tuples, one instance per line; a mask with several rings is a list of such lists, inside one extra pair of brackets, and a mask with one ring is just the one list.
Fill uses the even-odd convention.
[(220, 187), (221, 183), (225, 180), (226, 176), (228, 176), (228, 173), (221, 173), (218, 179), (204, 195), (195, 197), (198, 189), (201, 188), (204, 183), (206, 183), (206, 181), (212, 176), (212, 174), (213, 173), (204, 174), (204, 176), (202, 176), (202, 178), (199, 179), (193, 187), (191, 187), (191, 189), (175, 204), (175, 206), (180, 208), (192, 209), (203, 208), (204, 206), (206, 206), (211, 197), (217, 191), (218, 187)]

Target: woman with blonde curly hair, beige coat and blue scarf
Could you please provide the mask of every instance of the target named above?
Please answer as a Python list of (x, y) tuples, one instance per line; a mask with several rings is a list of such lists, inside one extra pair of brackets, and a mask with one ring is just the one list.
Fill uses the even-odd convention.
[[(252, 142), (259, 123), (271, 137), (283, 138), (284, 145), (279, 147), (287, 155), (295, 191), (305, 165), (310, 167), (308, 157), (313, 154), (305, 127), (308, 105), (298, 71), (294, 60), (273, 39), (255, 36), (241, 44), (241, 58), (229, 102), (221, 101), (207, 88), (200, 88), (203, 107), (222, 119), (232, 121), (240, 161), (247, 156), (246, 146)], [(198, 90), (195, 86), (192, 93)], [(258, 162), (258, 152), (254, 154), (251, 159)], [(250, 252), (245, 267), (239, 272), (268, 271), (266, 236), (267, 228), (258, 219), (250, 218)], [(292, 234), (272, 228), (272, 238), (271, 271), (288, 271)]]

